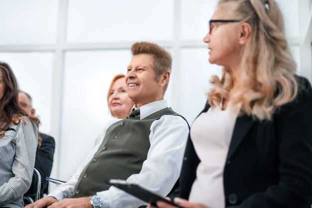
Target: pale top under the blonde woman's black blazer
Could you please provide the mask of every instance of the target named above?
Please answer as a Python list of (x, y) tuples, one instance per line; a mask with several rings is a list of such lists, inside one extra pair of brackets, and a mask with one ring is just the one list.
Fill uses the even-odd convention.
[[(230, 105), (230, 104), (229, 104)], [(194, 121), (190, 135), (200, 163), (189, 196), (190, 202), (209, 208), (224, 208), (224, 165), (229, 150), (237, 113), (228, 105), (212, 106)]]

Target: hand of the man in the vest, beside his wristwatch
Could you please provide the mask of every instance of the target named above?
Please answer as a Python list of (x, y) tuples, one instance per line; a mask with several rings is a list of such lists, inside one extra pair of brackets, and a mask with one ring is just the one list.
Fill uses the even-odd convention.
[(53, 203), (52, 205), (48, 206), (48, 208), (93, 208), (93, 206), (90, 204), (91, 198), (92, 197), (63, 199), (59, 202)]

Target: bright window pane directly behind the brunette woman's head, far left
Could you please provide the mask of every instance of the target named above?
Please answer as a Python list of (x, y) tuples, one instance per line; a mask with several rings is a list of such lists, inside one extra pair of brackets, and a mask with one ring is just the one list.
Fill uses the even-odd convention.
[(41, 125), (40, 132), (50, 132), (53, 53), (0, 53), (0, 61), (12, 68), (19, 88), (32, 97)]

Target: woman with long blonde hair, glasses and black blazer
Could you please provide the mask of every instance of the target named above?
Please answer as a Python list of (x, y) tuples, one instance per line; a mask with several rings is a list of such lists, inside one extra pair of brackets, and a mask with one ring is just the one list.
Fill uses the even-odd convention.
[[(211, 78), (194, 121), (177, 204), (185, 208), (308, 208), (312, 89), (296, 63), (275, 0), (219, 0), (204, 37)], [(160, 208), (171, 208), (158, 203)]]

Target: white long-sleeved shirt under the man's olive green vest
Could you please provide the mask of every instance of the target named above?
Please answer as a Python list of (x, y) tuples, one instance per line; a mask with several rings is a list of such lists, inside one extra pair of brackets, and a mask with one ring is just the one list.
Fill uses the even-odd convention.
[[(140, 119), (166, 107), (167, 102), (165, 100), (141, 106)], [(114, 119), (106, 125), (103, 129), (102, 140), (105, 137), (107, 128), (119, 120), (120, 119)], [(188, 126), (185, 120), (180, 116), (165, 115), (159, 120), (154, 121), (150, 130), (151, 147), (148, 152), (147, 160), (143, 163), (141, 172), (130, 176), (127, 182), (139, 184), (141, 187), (165, 197), (172, 189), (180, 174), (188, 136)], [(70, 196), (74, 191), (81, 171), (90, 162), (101, 143), (102, 142), (99, 142), (94, 147), (70, 180), (58, 186), (48, 196), (53, 196), (59, 201)], [(115, 187), (111, 187), (107, 191), (98, 192), (97, 195), (103, 201), (102, 208), (137, 208), (142, 205), (147, 205), (147, 203)]]

